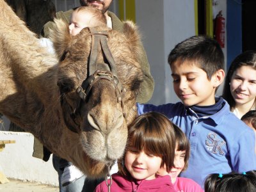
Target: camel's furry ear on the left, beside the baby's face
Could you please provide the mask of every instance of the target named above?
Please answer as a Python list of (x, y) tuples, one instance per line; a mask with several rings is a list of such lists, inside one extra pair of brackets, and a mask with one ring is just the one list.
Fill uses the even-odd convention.
[(66, 22), (61, 19), (54, 19), (54, 24), (54, 28), (50, 29), (49, 38), (54, 45), (58, 59), (61, 60), (65, 52), (68, 50), (71, 36)]

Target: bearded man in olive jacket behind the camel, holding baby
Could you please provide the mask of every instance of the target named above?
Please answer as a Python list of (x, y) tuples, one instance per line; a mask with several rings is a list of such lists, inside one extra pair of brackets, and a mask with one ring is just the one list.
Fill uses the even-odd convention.
[[(81, 3), (81, 6), (92, 6), (99, 10), (102, 10), (102, 12), (104, 13), (104, 15), (106, 17), (108, 27), (113, 30), (123, 32), (124, 24), (120, 21), (120, 19), (118, 19), (118, 17), (116, 17), (115, 13), (108, 11), (109, 6), (112, 3), (112, 0), (98, 0), (98, 1), (80, 0), (80, 3)], [(62, 19), (68, 23), (74, 10), (76, 10), (76, 8), (74, 8), (72, 10), (68, 10), (67, 12), (58, 12), (58, 13), (56, 13), (56, 18)], [(54, 22), (47, 22), (45, 24), (44, 28), (42, 29), (42, 36), (48, 37), (51, 28), (54, 28)], [(150, 67), (148, 64), (147, 55), (145, 53), (142, 43), (141, 43), (141, 50), (144, 54), (141, 55), (139, 63), (141, 65), (141, 69), (143, 71), (144, 80), (143, 80), (143, 83), (141, 84), (141, 92), (138, 94), (137, 102), (145, 103), (145, 102), (148, 102), (148, 100), (150, 100), (150, 98), (152, 97), (152, 93), (154, 90), (154, 79), (150, 74)], [(38, 142), (36, 142), (36, 143), (34, 144), (34, 148), (35, 148), (35, 145), (37, 145), (37, 148), (39, 146), (39, 150), (42, 152), (43, 151), (42, 147), (40, 147), (42, 145), (39, 145)], [(47, 150), (45, 150), (45, 148), (44, 148), (44, 153), (39, 154), (39, 156), (38, 156), (38, 153), (36, 153), (36, 150), (34, 150), (33, 156), (41, 157), (41, 158), (44, 158), (45, 161), (48, 161), (50, 154), (51, 153), (47, 152)], [(57, 169), (59, 170), (58, 171), (59, 177), (65, 176), (63, 174), (63, 170), (60, 170), (60, 167), (59, 167), (59, 165), (63, 161), (63, 159), (53, 155), (52, 161), (55, 164), (55, 166), (57, 166)], [(77, 173), (77, 177), (79, 177), (79, 172), (76, 171), (76, 167), (70, 166), (69, 168), (72, 168), (72, 170)], [(65, 187), (62, 187), (60, 184), (60, 191), (66, 191), (66, 192), (67, 191), (72, 191), (72, 192), (79, 191), (80, 192), (82, 190), (82, 188), (83, 188), (83, 191), (93, 191), (93, 189), (96, 187), (97, 183), (101, 181), (101, 180), (99, 180), (99, 181), (92, 180), (91, 181), (91, 180), (86, 179), (84, 182), (84, 179), (85, 179), (85, 177), (83, 176), (80, 179), (77, 179), (75, 182), (68, 184)]]

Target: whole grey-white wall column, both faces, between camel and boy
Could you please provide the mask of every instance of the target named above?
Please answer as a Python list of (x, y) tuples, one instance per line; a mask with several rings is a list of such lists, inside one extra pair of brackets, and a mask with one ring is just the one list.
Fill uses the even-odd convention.
[(136, 22), (143, 35), (151, 73), (155, 80), (153, 104), (177, 102), (173, 92), (168, 54), (180, 41), (195, 35), (191, 0), (136, 1)]

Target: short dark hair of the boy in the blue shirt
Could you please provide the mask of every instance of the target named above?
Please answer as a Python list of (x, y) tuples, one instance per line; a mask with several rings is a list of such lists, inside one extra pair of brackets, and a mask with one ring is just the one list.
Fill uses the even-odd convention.
[(219, 69), (224, 69), (224, 55), (218, 42), (207, 36), (191, 36), (177, 44), (168, 56), (172, 66), (175, 61), (196, 61), (210, 80)]

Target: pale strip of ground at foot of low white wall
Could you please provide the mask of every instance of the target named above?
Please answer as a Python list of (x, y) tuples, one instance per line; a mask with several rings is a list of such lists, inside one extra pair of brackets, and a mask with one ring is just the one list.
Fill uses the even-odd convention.
[(22, 180), (12, 180), (6, 184), (0, 184), (0, 191), (6, 192), (58, 192), (59, 188), (48, 186), (37, 182), (24, 182)]

